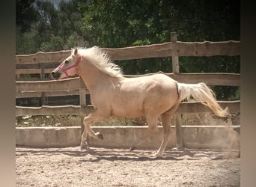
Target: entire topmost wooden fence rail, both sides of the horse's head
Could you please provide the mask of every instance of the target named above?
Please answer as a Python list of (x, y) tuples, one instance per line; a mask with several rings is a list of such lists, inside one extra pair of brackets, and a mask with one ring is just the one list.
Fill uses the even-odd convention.
[[(112, 60), (139, 58), (163, 58), (178, 56), (240, 55), (240, 41), (224, 42), (167, 42), (148, 46), (132, 46), (118, 49), (103, 48)], [(16, 64), (61, 62), (70, 55), (70, 50), (60, 52), (37, 52), (31, 55), (16, 55)]]

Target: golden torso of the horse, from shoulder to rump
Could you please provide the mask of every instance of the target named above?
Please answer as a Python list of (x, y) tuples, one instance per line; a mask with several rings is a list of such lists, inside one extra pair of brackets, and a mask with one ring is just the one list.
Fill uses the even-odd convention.
[(162, 114), (177, 98), (177, 82), (164, 74), (127, 78), (112, 95), (112, 114), (138, 117), (150, 110)]

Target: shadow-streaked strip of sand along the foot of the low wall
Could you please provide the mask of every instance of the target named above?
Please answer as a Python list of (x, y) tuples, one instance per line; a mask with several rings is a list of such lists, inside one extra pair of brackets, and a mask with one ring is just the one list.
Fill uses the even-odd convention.
[(80, 150), (80, 147), (67, 148), (28, 148), (16, 147), (16, 156), (53, 156), (66, 155), (80, 157), (81, 162), (108, 161), (153, 161), (153, 160), (199, 160), (199, 159), (235, 159), (240, 157), (239, 150), (203, 150), (203, 149), (177, 149), (166, 150), (163, 156), (153, 156), (155, 150), (106, 149), (93, 147), (91, 150)]

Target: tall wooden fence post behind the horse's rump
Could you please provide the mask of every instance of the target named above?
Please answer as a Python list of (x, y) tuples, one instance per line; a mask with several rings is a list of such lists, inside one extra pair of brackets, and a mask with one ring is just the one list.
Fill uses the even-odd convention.
[[(177, 33), (171, 32), (171, 42), (177, 42)], [(177, 51), (174, 50), (174, 55), (171, 57), (173, 73), (180, 73), (179, 57)], [(183, 148), (183, 131), (181, 126), (181, 114), (174, 114), (174, 124), (176, 129), (176, 146), (177, 148)]]

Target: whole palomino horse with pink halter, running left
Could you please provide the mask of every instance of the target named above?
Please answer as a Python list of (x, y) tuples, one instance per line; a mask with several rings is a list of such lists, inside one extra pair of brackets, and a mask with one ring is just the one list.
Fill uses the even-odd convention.
[[(120, 67), (110, 61), (106, 52), (97, 46), (73, 49), (71, 55), (52, 71), (54, 79), (79, 76), (91, 94), (95, 111), (84, 118), (81, 149), (89, 149), (88, 134), (103, 139), (94, 132), (91, 124), (108, 117), (142, 117), (147, 120), (149, 132), (157, 131), (157, 121), (162, 121), (163, 140), (156, 152), (162, 156), (168, 142), (171, 116), (183, 99), (191, 96), (207, 105), (216, 116), (226, 117), (228, 108), (222, 109), (215, 94), (204, 83), (184, 84), (157, 73), (151, 76), (125, 78)], [(134, 147), (131, 147), (131, 150)]]

